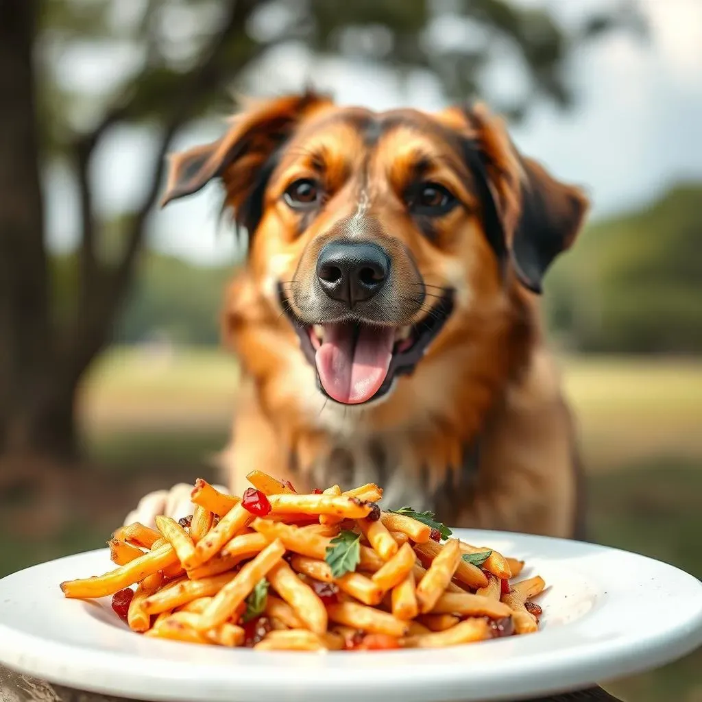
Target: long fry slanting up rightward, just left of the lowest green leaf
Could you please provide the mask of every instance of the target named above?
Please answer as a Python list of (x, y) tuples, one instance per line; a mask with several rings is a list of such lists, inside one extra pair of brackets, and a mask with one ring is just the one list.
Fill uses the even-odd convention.
[[(237, 507), (235, 507), (230, 514), (232, 514)], [(202, 543), (202, 541), (200, 543)], [(256, 587), (256, 583), (258, 583), (261, 578), (264, 578), (268, 571), (280, 562), (284, 553), (285, 547), (282, 541), (276, 539), (268, 544), (256, 558), (246, 563), (234, 578), (214, 595), (212, 602), (208, 604), (208, 607), (200, 616), (198, 629), (204, 631), (227, 621), (234, 613), (234, 610), (244, 602), (246, 597), (249, 596), (249, 593)], [(197, 583), (202, 581), (190, 582)], [(279, 594), (281, 593), (279, 592)]]

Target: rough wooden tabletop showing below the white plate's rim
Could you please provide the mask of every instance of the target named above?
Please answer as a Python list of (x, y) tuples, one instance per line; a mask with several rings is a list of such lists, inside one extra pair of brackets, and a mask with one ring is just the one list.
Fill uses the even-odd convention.
[[(136, 702), (124, 697), (100, 695), (55, 685), (44, 680), (15, 673), (0, 665), (0, 702)], [(256, 702), (252, 700), (251, 702)], [(515, 702), (517, 702), (515, 700)], [(621, 702), (601, 687), (540, 697), (528, 702)]]

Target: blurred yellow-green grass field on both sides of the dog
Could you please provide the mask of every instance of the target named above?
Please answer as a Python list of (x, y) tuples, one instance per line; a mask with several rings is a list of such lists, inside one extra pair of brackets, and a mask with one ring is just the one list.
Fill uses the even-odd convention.
[[(567, 358), (562, 371), (580, 425), (592, 539), (702, 577), (702, 362)], [(0, 576), (104, 543), (148, 489), (213, 476), (208, 458), (227, 438), (237, 380), (232, 359), (206, 350), (107, 354), (80, 401), (104, 496), (82, 494), (79, 483), (59, 491), (67, 509), (54, 519), (43, 510), (43, 528), (32, 533), (24, 522), (0, 541)], [(0, 505), (3, 533), (11, 520), (1, 517), (11, 512)], [(665, 616), (651, 605), (651, 616)], [(701, 669), (698, 651), (609, 687), (630, 702), (702, 702)]]

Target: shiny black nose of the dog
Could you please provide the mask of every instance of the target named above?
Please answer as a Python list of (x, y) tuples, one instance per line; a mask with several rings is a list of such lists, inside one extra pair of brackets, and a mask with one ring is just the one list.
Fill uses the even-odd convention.
[(322, 290), (349, 307), (376, 295), (389, 271), (388, 254), (376, 244), (331, 241), (317, 258)]

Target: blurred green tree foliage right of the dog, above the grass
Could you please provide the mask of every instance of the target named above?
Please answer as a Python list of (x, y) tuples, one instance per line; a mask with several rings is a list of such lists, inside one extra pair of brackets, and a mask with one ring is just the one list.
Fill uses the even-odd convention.
[(552, 270), (550, 326), (592, 352), (702, 352), (701, 184), (588, 227)]

